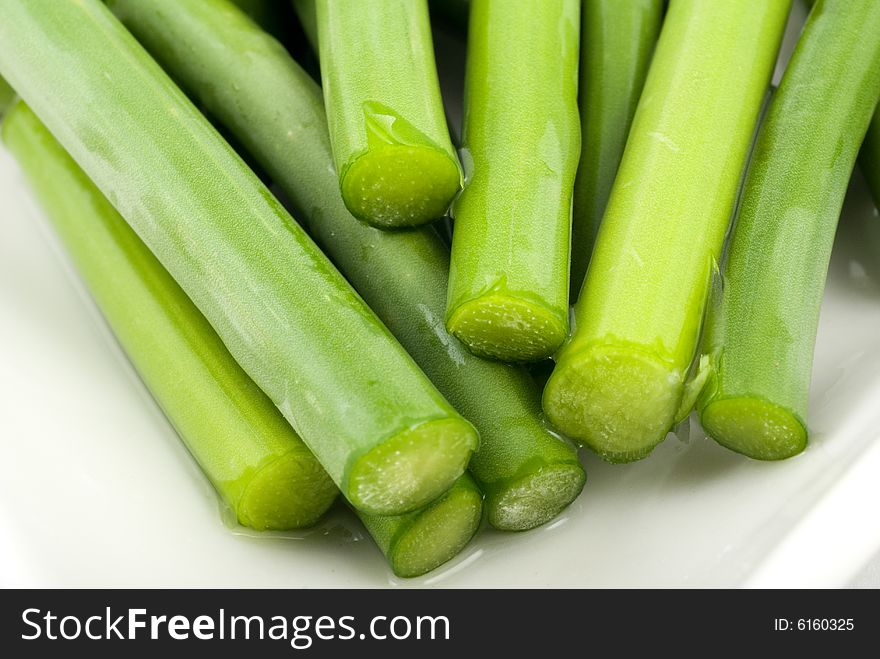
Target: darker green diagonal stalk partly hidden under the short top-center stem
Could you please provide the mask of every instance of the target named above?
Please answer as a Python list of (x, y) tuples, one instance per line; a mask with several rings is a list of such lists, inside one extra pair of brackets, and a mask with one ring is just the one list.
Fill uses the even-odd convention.
[[(238, 136), (310, 220), (311, 233), (448, 399), (480, 431), (471, 471), (491, 524), (552, 519), (580, 492), (574, 449), (541, 423), (520, 368), (471, 355), (443, 325), (449, 253), (430, 228), (386, 232), (345, 208), (321, 91), (227, 0), (116, 0), (128, 28)], [(162, 11), (159, 11), (159, 10)], [(165, 10), (168, 11), (165, 11)], [(247, 68), (237, 66), (245, 53)]]

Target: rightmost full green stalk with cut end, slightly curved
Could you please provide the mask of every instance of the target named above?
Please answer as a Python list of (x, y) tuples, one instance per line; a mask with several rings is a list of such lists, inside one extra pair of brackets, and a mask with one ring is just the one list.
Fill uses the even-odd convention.
[(803, 450), (831, 246), (880, 98), (880, 3), (819, 0), (773, 96), (749, 167), (707, 345), (706, 431), (775, 460)]

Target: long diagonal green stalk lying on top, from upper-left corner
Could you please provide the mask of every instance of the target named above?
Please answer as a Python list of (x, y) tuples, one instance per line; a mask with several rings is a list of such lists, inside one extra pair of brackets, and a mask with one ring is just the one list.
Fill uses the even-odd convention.
[(349, 501), (398, 514), (446, 491), (473, 427), (109, 10), (0, 0), (0, 14), (2, 75)]

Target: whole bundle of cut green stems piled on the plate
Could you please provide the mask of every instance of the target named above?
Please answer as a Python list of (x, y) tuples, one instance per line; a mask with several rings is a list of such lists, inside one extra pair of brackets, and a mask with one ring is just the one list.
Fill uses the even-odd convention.
[[(803, 450), (860, 145), (880, 204), (877, 0), (815, 3), (745, 178), (789, 0), (433, 2), (469, 17), (464, 168), (428, 0), (294, 0), (323, 87), (277, 3), (106, 4), (0, 0), (2, 136), (238, 523), (341, 491), (416, 576), (484, 507), (525, 530), (578, 496), (543, 413), (612, 462), (694, 405), (735, 451)], [(451, 255), (423, 226), (450, 205)], [(492, 361), (550, 356), (543, 400)]]

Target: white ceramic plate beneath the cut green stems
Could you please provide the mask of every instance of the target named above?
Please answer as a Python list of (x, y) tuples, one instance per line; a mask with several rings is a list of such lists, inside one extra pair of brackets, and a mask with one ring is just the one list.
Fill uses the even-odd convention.
[(880, 547), (880, 218), (858, 175), (810, 425), (808, 450), (783, 463), (696, 427), (634, 465), (585, 455), (587, 487), (556, 522), (487, 530), (413, 581), (394, 579), (344, 513), (299, 538), (241, 535), (0, 151), (0, 585), (843, 585)]

